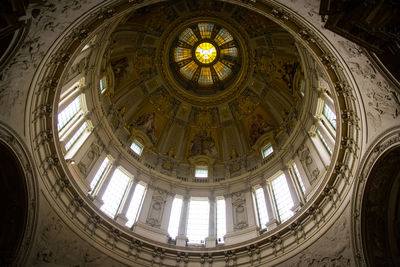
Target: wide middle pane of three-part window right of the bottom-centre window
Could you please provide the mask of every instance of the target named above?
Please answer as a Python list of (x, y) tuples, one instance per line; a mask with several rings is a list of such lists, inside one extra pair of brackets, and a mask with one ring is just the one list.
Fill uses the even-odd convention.
[(278, 215), (281, 223), (283, 223), (293, 215), (291, 210), (293, 207), (293, 200), (290, 195), (285, 174), (281, 174), (279, 177), (272, 180), (271, 185)]

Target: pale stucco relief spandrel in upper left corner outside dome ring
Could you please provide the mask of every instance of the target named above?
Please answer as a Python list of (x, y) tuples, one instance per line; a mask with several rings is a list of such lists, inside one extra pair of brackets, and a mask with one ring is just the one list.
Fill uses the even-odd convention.
[(0, 74), (0, 107), (3, 116), (8, 118), (13, 110), (11, 107), (24, 104), (27, 92), (24, 88), (29, 84), (23, 83), (31, 79), (21, 77), (31, 77), (34, 74), (55, 38), (86, 10), (82, 7), (89, 2), (66, 0), (55, 5), (52, 1), (42, 1), (30, 5), (26, 19), (29, 32), (17, 54)]

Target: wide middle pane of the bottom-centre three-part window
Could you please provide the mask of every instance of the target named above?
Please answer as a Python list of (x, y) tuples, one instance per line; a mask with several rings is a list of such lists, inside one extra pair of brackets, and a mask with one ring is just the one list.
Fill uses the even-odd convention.
[(201, 244), (208, 236), (210, 204), (208, 200), (192, 198), (189, 204), (187, 238), (189, 243)]

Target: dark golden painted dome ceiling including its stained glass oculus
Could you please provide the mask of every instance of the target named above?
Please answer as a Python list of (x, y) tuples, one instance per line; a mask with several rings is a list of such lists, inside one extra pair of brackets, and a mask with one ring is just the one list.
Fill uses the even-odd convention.
[(293, 37), (222, 2), (136, 10), (113, 30), (102, 66), (101, 103), (119, 140), (175, 163), (261, 160), (263, 146), (290, 135), (304, 96)]

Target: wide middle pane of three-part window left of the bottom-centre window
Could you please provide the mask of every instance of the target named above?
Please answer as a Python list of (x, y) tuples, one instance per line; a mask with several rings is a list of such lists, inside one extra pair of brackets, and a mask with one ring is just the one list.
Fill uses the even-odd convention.
[(101, 210), (110, 217), (114, 217), (118, 210), (119, 204), (124, 196), (126, 187), (128, 186), (129, 177), (120, 169), (114, 171), (111, 181), (102, 198), (103, 206)]

